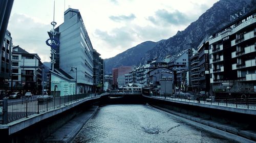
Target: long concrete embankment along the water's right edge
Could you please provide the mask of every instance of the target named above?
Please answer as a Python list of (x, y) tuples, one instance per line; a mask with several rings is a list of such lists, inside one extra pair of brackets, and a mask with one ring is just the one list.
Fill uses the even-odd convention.
[(164, 111), (168, 115), (175, 117), (187, 124), (193, 125), (199, 129), (203, 129), (211, 133), (218, 134), (230, 140), (246, 143), (256, 143), (256, 141), (254, 141), (256, 140), (256, 133), (253, 131), (241, 130), (240, 128), (234, 126), (220, 124), (215, 121), (205, 120), (200, 117), (187, 115), (155, 105), (150, 106), (156, 110)]

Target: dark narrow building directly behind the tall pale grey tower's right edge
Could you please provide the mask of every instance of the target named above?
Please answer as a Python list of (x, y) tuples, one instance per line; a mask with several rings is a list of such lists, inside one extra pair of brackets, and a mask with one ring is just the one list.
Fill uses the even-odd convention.
[(103, 75), (104, 75), (104, 62), (103, 59), (100, 58), (100, 53), (98, 53), (95, 49), (93, 49), (93, 84), (94, 91), (102, 91), (103, 90)]

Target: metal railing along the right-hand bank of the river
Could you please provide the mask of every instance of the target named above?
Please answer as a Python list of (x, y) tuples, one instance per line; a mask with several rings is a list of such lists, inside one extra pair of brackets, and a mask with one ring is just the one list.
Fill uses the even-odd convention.
[(184, 102), (194, 102), (198, 104), (208, 104), (208, 105), (216, 105), (223, 107), (231, 107), (231, 108), (240, 108), (240, 109), (251, 109), (256, 110), (256, 98), (219, 98), (214, 99), (210, 97), (198, 97), (190, 94), (184, 95), (146, 95), (155, 98), (161, 98), (166, 100), (176, 100), (176, 101), (184, 101)]

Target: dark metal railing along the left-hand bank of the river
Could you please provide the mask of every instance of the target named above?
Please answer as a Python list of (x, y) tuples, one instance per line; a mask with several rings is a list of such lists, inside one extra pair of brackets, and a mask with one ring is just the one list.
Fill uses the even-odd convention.
[(78, 101), (93, 98), (101, 95), (100, 93), (88, 93), (69, 96), (44, 96), (44, 97), (32, 97), (23, 98), (19, 101), (12, 101), (4, 98), (2, 102), (2, 114), (0, 114), (0, 122), (7, 124), (12, 121), (16, 121), (22, 118), (28, 118), (29, 116), (46, 112), (49, 110), (58, 109), (67, 105), (76, 103)]

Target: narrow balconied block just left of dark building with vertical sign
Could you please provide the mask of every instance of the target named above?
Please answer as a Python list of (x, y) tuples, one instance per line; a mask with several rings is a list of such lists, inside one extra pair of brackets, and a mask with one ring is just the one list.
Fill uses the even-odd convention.
[(190, 85), (193, 90), (193, 92), (200, 92), (199, 88), (199, 54), (196, 53), (195, 55), (190, 57)]

